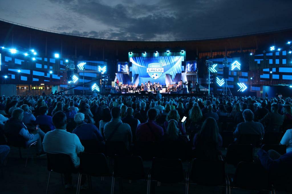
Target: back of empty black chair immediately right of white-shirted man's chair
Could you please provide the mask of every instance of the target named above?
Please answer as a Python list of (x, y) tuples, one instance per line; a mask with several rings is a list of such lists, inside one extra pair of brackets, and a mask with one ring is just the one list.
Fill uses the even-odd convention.
[(106, 157), (101, 153), (80, 153), (79, 172), (94, 177), (110, 176)]

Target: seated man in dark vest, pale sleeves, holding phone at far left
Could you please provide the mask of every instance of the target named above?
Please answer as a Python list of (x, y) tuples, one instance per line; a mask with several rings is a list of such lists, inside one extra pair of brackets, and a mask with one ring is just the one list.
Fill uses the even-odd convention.
[(23, 110), (18, 108), (12, 112), (12, 117), (6, 121), (4, 125), (4, 132), (8, 137), (8, 143), (18, 143), (21, 139), (24, 139), (26, 144), (29, 145), (30, 143), (37, 141), (37, 153), (38, 155), (43, 155), (44, 152), (42, 151), (41, 147), (41, 139), (44, 137), (44, 132), (39, 130), (35, 130), (32, 134), (30, 134), (27, 130), (25, 124), (23, 124)]

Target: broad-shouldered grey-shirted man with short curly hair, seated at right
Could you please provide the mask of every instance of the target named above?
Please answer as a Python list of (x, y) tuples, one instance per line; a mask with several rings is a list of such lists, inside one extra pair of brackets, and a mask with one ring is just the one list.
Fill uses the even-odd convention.
[(261, 123), (253, 121), (253, 112), (249, 109), (246, 109), (243, 111), (242, 115), (244, 122), (239, 123), (233, 132), (235, 141), (240, 138), (241, 134), (259, 134), (260, 140), (262, 140), (265, 130)]

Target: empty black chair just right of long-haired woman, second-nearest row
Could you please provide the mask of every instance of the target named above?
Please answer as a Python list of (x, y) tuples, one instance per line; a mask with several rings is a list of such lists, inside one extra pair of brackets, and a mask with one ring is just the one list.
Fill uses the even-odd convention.
[(230, 144), (225, 157), (227, 164), (237, 165), (239, 162), (253, 162), (253, 145)]

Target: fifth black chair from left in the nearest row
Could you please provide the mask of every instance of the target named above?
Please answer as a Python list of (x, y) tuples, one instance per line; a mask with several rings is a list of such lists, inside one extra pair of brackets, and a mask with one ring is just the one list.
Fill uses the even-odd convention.
[(194, 159), (190, 174), (187, 176), (187, 193), (189, 184), (206, 186), (224, 186), (228, 191), (225, 176), (225, 162), (223, 160)]

